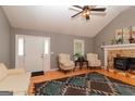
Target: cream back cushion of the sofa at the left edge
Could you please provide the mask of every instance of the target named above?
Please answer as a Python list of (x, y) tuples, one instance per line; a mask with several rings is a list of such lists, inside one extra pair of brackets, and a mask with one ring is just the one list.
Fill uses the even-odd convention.
[(0, 63), (0, 80), (5, 78), (8, 75), (8, 70), (3, 63)]

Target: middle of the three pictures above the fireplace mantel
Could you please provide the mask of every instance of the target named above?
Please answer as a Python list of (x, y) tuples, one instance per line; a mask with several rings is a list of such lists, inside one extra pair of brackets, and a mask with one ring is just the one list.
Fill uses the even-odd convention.
[(130, 43), (128, 39), (131, 38), (131, 27), (123, 28), (123, 42)]

